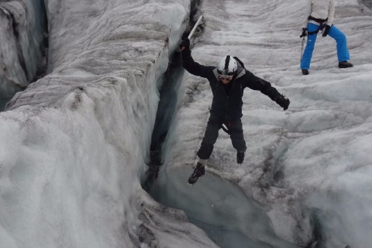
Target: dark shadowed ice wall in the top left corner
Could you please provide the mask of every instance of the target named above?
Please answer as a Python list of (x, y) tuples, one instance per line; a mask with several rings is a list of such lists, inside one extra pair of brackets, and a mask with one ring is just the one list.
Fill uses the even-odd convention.
[(47, 19), (42, 0), (0, 3), (0, 110), (46, 69)]

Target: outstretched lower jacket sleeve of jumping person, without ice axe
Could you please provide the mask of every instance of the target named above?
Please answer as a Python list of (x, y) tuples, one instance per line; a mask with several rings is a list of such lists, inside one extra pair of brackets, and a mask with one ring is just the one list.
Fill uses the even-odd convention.
[(262, 94), (269, 96), (272, 101), (276, 101), (281, 96), (278, 90), (271, 86), (271, 83), (260, 79), (258, 76), (249, 72), (249, 70), (245, 70), (245, 76), (247, 76), (245, 87), (249, 87), (252, 90), (259, 90)]

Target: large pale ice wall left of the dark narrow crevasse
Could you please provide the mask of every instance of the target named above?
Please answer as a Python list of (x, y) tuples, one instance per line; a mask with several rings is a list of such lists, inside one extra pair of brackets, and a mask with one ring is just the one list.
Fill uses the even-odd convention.
[(48, 75), (0, 113), (0, 246), (215, 247), (138, 182), (189, 1), (45, 7)]

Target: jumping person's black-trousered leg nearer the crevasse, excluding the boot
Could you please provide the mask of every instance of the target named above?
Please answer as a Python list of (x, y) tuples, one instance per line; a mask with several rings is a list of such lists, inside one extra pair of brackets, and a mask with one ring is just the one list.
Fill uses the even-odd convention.
[(201, 160), (207, 160), (211, 156), (214, 143), (216, 143), (218, 138), (218, 130), (220, 130), (220, 128), (221, 123), (218, 121), (218, 119), (216, 119), (213, 115), (209, 116), (204, 138), (197, 153), (198, 158)]

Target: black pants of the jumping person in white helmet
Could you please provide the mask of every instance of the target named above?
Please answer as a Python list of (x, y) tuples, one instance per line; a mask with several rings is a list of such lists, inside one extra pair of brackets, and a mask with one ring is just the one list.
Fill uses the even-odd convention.
[[(207, 123), (207, 129), (205, 130), (203, 141), (198, 150), (198, 157), (201, 159), (208, 159), (213, 151), (214, 143), (218, 138), (218, 131), (222, 127), (223, 121), (220, 121), (214, 114), (209, 116)], [(231, 143), (233, 147), (238, 151), (245, 151), (247, 146), (242, 131), (242, 120), (240, 118), (234, 121), (226, 121), (225, 125), (229, 129)]]

